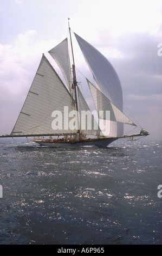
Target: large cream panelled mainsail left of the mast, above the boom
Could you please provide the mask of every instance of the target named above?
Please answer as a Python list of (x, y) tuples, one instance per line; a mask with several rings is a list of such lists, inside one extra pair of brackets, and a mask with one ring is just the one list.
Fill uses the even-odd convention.
[[(70, 130), (67, 125), (68, 114), (66, 117), (63, 116), (64, 106), (68, 107), (69, 112), (75, 109), (72, 96), (43, 55), (11, 136), (75, 132), (75, 130)], [(61, 115), (57, 117), (58, 123), (62, 121), (62, 129), (59, 127), (59, 129), (54, 130), (52, 127), (56, 118), (53, 115), (54, 111), (62, 113), (62, 117)]]

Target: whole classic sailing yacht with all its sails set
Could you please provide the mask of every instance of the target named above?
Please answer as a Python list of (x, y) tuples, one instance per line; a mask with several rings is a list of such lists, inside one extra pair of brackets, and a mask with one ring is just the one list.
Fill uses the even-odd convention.
[[(93, 81), (85, 77), (87, 89), (81, 92), (69, 26), (69, 40), (64, 39), (48, 52), (63, 79), (60, 71), (43, 54), (14, 129), (10, 135), (1, 138), (34, 137), (31, 141), (46, 147), (107, 147), (119, 138), (148, 135), (143, 129), (137, 134), (123, 135), (124, 124), (137, 125), (123, 112), (119, 77), (106, 57), (76, 33), (74, 36)], [(83, 96), (88, 90), (93, 111)]]

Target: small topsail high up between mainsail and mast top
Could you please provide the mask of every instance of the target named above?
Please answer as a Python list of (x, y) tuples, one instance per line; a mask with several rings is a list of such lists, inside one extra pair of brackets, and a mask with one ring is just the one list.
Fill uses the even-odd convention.
[(69, 91), (72, 92), (72, 76), (70, 72), (70, 59), (68, 51), (68, 40), (67, 38), (60, 42), (59, 45), (48, 51), (50, 55), (54, 58), (55, 62), (62, 71), (62, 74), (67, 82)]

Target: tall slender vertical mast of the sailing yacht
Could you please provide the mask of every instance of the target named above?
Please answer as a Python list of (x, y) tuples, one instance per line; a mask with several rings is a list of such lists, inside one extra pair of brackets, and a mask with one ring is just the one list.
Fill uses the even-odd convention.
[[(69, 18), (68, 18), (69, 20)], [(69, 21), (68, 21), (68, 25), (69, 25)], [(74, 92), (75, 92), (75, 104), (76, 104), (76, 111), (77, 111), (77, 120), (79, 121), (79, 117), (78, 117), (78, 113), (79, 113), (79, 108), (78, 108), (78, 101), (77, 101), (77, 92), (76, 92), (76, 87), (77, 87), (77, 81), (76, 81), (76, 72), (75, 72), (75, 62), (74, 62), (74, 52), (73, 52), (73, 44), (72, 44), (72, 35), (71, 35), (71, 29), (70, 29), (70, 25), (69, 25), (69, 33), (70, 33), (70, 43), (71, 43), (71, 47), (72, 47), (72, 56), (73, 56), (73, 84), (74, 84)], [(80, 129), (78, 130), (79, 134)]]

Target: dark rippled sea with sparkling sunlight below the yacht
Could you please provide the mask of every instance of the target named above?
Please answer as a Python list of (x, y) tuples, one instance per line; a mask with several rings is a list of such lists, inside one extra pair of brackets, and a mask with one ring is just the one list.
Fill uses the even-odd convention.
[(161, 244), (161, 145), (55, 149), (2, 139), (0, 244)]

